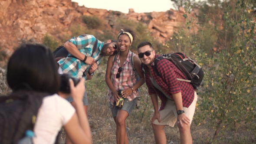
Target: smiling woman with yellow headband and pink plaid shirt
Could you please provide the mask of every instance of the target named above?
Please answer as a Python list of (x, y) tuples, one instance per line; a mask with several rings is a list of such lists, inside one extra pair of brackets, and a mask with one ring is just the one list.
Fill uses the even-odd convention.
[[(136, 34), (131, 29), (121, 29), (118, 34), (120, 51), (116, 56), (112, 55), (108, 58), (105, 81), (109, 88), (108, 101), (112, 116), (117, 126), (117, 144), (128, 144), (125, 120), (137, 104), (137, 89), (145, 82), (144, 76), (140, 72), (141, 61), (129, 50), (129, 46), (135, 38)], [(135, 71), (131, 66), (131, 56), (133, 56), (135, 69), (141, 77), (139, 81), (136, 79)], [(116, 104), (119, 105), (116, 106)]]

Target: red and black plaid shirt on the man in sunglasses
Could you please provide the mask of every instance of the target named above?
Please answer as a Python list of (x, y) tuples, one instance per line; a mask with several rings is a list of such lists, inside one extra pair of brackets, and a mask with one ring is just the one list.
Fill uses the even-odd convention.
[[(159, 55), (156, 55), (155, 58), (157, 58), (158, 56)], [(156, 80), (158, 85), (160, 85), (163, 91), (171, 98), (172, 94), (181, 92), (182, 104), (184, 107), (188, 108), (192, 101), (194, 100), (194, 88), (188, 82), (177, 80), (177, 78), (186, 79), (185, 75), (179, 69), (177, 69), (177, 67), (172, 62), (170, 62), (167, 59), (161, 59), (158, 62), (157, 66), (160, 76), (157, 76), (157, 74), (154, 72), (152, 64), (150, 70), (153, 78)], [(164, 109), (167, 98), (161, 91), (159, 91), (152, 85), (151, 80), (149, 78), (149, 72), (147, 70), (148, 69), (146, 68), (145, 81), (148, 86), (148, 94), (152, 95), (156, 93), (159, 96), (159, 98), (161, 99), (161, 107), (159, 110), (162, 110)], [(141, 73), (143, 73), (142, 67)]]

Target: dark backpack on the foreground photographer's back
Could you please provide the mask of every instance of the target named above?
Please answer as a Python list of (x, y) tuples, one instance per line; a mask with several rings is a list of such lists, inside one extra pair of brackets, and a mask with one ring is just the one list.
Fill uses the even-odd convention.
[(0, 96), (0, 144), (17, 144), (26, 130), (33, 131), (43, 97), (49, 94), (17, 91)]

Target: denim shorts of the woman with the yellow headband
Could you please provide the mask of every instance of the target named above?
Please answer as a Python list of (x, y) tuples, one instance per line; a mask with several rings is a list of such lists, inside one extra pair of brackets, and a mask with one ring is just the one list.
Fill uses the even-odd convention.
[[(123, 107), (120, 108), (121, 110), (124, 110), (124, 111), (127, 111), (128, 112), (128, 115), (131, 113), (132, 109), (135, 108), (136, 104), (137, 104), (137, 99), (138, 98), (135, 98), (134, 100), (132, 101), (129, 101), (127, 98), (124, 99), (124, 104), (123, 104)], [(116, 105), (116, 102), (114, 102), (114, 106)], [(109, 103), (109, 107), (112, 107), (113, 105), (111, 105)], [(112, 112), (112, 116), (113, 117), (116, 117), (117, 115), (117, 112), (118, 110), (120, 110), (118, 107), (114, 107), (114, 108), (110, 108), (111, 109), (111, 112)]]

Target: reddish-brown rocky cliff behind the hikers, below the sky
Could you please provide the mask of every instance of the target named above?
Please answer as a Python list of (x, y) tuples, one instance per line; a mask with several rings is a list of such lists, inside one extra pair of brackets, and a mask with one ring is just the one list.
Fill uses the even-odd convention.
[(83, 15), (95, 15), (105, 20), (106, 29), (115, 27), (117, 18), (143, 22), (153, 37), (164, 43), (175, 29), (184, 27), (184, 13), (183, 8), (152, 13), (136, 13), (129, 9), (129, 13), (121, 13), (80, 7), (71, 0), (1, 0), (0, 49), (10, 56), (13, 48), (24, 41), (40, 43), (46, 33), (51, 33), (56, 28), (60, 29), (60, 33), (65, 33), (70, 25), (82, 23), (80, 16)]

